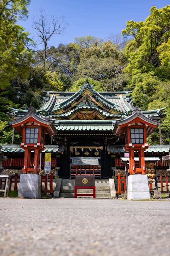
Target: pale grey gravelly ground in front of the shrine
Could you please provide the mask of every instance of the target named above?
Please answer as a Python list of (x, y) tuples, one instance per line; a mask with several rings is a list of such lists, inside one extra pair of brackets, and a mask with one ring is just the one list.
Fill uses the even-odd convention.
[(1, 256), (170, 255), (170, 201), (0, 198)]

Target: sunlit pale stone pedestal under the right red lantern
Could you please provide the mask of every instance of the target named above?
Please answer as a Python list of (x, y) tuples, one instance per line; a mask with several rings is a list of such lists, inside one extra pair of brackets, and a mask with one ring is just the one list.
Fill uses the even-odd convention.
[(150, 199), (148, 176), (135, 174), (128, 176), (128, 200)]

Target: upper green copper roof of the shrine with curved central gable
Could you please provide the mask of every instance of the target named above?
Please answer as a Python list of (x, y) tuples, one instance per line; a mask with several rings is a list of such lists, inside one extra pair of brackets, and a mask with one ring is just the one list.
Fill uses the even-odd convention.
[[(83, 94), (87, 88), (91, 92), (91, 98)], [(41, 107), (39, 110), (36, 110), (36, 114), (52, 121), (53, 118), (69, 119), (74, 111), (83, 110), (82, 108), (86, 106), (92, 110), (95, 109), (106, 119), (125, 118), (125, 116), (131, 115), (134, 109), (132, 98), (129, 97), (129, 93), (132, 93), (132, 91), (97, 92), (88, 81), (85, 82), (77, 92), (44, 92), (46, 93), (46, 97), (43, 98)], [(84, 100), (84, 97), (85, 99), (87, 97), (89, 98)], [(8, 112), (8, 114), (15, 118), (22, 117), (28, 113), (28, 110), (19, 110), (10, 107), (9, 109), (11, 113)], [(61, 112), (59, 111), (59, 113), (55, 114), (58, 110), (61, 110)], [(166, 115), (166, 113), (163, 113), (164, 110), (165, 108), (162, 108), (141, 111), (141, 113), (155, 120), (163, 120), (163, 117)], [(116, 113), (114, 113), (115, 111)]]

